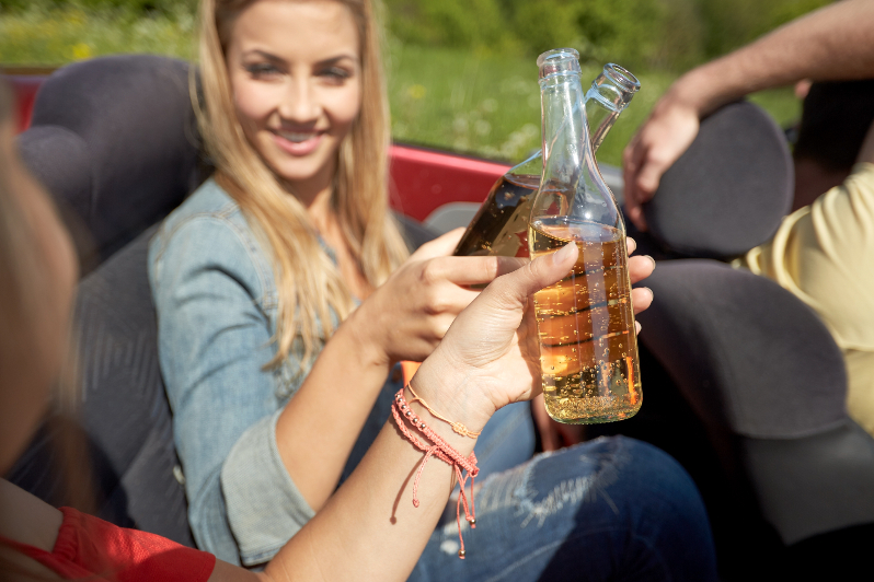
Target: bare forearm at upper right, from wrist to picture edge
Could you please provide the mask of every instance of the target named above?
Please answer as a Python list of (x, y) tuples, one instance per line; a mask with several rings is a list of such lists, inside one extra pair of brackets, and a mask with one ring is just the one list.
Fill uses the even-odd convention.
[(790, 22), (681, 77), (670, 89), (704, 116), (721, 105), (801, 79), (874, 77), (874, 2), (844, 0)]

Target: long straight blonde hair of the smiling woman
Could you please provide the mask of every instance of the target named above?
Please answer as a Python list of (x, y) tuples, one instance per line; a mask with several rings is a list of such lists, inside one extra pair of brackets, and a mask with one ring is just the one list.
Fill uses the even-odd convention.
[[(202, 96), (195, 110), (221, 186), (237, 200), (250, 225), (272, 253), (278, 292), (278, 365), (295, 338), (303, 341), (307, 365), (333, 333), (333, 311), (343, 321), (355, 303), (340, 269), (321, 248), (318, 234), (297, 198), (264, 163), (238, 123), (226, 55), (234, 19), (257, 0), (203, 0), (200, 3)], [(361, 55), (361, 109), (337, 152), (331, 206), (349, 252), (372, 287), (407, 256), (388, 208), (389, 112), (380, 59), (378, 0), (336, 1), (348, 8), (358, 27)]]

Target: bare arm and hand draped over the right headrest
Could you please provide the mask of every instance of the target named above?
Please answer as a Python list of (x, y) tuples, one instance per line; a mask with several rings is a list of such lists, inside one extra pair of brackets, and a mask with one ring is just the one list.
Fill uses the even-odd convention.
[(843, 0), (680, 77), (623, 153), (628, 218), (646, 230), (641, 203), (692, 143), (700, 120), (720, 106), (802, 79), (874, 77), (873, 31), (874, 2)]

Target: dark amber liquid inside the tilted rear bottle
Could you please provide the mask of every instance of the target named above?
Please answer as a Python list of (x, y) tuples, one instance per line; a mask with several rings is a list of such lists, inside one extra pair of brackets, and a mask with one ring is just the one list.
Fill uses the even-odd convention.
[(504, 174), (473, 217), (456, 256), (528, 256), (528, 217), (540, 176)]

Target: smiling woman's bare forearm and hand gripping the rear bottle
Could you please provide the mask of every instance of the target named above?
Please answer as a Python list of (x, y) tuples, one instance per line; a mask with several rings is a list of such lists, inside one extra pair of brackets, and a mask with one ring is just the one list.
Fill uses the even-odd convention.
[(414, 253), (340, 326), (276, 426), (283, 463), (310, 507), (334, 492), (365, 420), (399, 360), (424, 360), (487, 283), (498, 257), (450, 257), (460, 232)]

